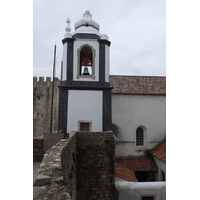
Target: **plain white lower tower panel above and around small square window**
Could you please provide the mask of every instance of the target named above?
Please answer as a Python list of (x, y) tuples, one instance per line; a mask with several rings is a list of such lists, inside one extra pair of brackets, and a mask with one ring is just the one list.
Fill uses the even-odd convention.
[(79, 121), (92, 123), (90, 131), (102, 131), (102, 91), (69, 90), (67, 132), (78, 131)]

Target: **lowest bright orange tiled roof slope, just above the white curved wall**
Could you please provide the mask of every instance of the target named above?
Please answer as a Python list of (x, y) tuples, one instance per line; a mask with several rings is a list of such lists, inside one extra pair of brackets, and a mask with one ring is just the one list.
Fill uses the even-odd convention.
[(115, 162), (115, 176), (117, 178), (124, 179), (126, 181), (138, 182), (135, 174), (130, 169), (124, 167), (123, 165)]

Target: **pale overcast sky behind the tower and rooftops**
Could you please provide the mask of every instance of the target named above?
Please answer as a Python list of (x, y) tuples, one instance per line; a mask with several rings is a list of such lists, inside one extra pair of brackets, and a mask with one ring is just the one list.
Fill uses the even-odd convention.
[(33, 0), (33, 76), (52, 76), (56, 44), (60, 78), (66, 20), (73, 33), (86, 10), (111, 41), (110, 74), (166, 75), (165, 0)]

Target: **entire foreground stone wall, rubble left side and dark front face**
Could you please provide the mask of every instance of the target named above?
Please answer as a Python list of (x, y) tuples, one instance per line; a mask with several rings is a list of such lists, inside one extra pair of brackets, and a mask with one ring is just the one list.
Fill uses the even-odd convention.
[(72, 132), (50, 148), (34, 183), (34, 200), (117, 200), (113, 132)]

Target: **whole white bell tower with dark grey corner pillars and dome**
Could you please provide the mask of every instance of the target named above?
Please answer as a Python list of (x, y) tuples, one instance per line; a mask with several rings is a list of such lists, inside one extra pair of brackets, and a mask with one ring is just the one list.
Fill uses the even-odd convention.
[(108, 131), (112, 129), (109, 83), (111, 42), (99, 32), (89, 11), (74, 25), (70, 20), (63, 43), (63, 80), (60, 86), (59, 129)]

